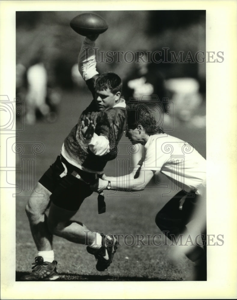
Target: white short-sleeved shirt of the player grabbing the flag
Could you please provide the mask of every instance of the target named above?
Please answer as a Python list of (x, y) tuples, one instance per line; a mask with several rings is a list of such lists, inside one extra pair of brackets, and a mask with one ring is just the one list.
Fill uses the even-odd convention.
[(162, 172), (192, 189), (206, 180), (206, 160), (189, 143), (168, 134), (151, 135), (141, 169)]

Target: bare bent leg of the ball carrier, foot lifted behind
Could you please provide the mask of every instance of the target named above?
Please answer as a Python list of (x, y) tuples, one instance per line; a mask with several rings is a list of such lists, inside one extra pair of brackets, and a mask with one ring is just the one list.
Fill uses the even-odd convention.
[(90, 231), (84, 224), (70, 220), (77, 211), (70, 211), (53, 203), (50, 206), (48, 225), (50, 231), (57, 236), (78, 244), (92, 244), (96, 232)]

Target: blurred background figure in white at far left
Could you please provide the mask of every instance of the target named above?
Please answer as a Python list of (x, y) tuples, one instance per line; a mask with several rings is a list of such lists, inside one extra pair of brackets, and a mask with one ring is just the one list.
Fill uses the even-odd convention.
[(50, 107), (46, 103), (47, 71), (43, 62), (36, 58), (26, 72), (28, 90), (26, 94), (26, 122), (35, 124), (37, 110), (46, 118)]

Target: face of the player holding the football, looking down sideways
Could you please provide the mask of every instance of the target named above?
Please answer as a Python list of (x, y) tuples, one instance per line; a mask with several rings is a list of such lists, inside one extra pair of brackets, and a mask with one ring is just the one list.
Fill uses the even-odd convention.
[(109, 110), (112, 108), (120, 97), (120, 92), (113, 94), (108, 88), (107, 90), (96, 90), (96, 106), (98, 111)]

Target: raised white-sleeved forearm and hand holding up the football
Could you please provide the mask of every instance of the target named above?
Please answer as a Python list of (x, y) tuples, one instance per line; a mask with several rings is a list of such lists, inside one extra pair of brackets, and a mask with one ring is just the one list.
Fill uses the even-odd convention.
[(93, 35), (84, 38), (78, 55), (78, 70), (85, 81), (99, 74), (96, 70), (95, 49), (95, 40), (98, 36), (99, 35)]

